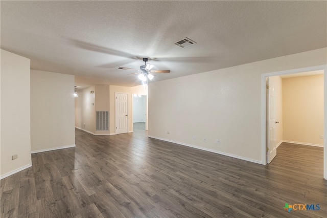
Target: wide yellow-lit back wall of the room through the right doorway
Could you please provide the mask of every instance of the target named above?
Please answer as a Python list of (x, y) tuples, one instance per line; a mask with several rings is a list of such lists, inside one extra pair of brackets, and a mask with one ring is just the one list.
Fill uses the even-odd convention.
[(323, 146), (323, 74), (283, 79), (284, 140)]

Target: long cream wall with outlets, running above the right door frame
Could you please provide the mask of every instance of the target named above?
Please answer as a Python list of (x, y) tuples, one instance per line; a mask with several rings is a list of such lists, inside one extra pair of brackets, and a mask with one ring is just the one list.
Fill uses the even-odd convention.
[(326, 51), (150, 83), (149, 136), (263, 163), (261, 74), (326, 64)]

